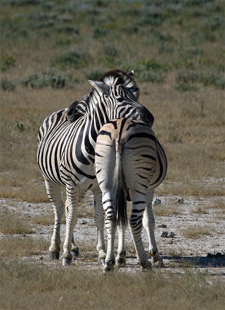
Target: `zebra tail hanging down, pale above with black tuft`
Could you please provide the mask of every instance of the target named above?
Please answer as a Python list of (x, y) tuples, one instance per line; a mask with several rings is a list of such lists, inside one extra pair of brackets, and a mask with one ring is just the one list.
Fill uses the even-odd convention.
[(113, 201), (119, 225), (127, 223), (127, 202), (125, 196), (125, 178), (121, 162), (122, 145), (116, 145), (116, 165), (113, 173)]

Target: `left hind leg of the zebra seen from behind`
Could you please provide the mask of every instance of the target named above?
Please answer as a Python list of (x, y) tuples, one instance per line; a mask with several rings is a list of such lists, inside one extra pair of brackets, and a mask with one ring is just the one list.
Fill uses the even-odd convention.
[(117, 230), (117, 215), (112, 206), (113, 195), (110, 195), (109, 192), (103, 194), (103, 207), (105, 210), (105, 228), (108, 234), (108, 247), (107, 255), (105, 258), (104, 272), (111, 271), (114, 269), (116, 263), (114, 255), (114, 242), (115, 235)]

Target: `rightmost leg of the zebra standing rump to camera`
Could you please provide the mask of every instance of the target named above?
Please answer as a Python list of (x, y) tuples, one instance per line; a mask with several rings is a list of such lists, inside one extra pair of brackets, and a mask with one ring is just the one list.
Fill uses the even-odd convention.
[(158, 254), (158, 249), (155, 242), (155, 219), (152, 212), (152, 200), (154, 189), (148, 191), (147, 206), (143, 215), (143, 226), (148, 233), (149, 238), (149, 253), (152, 257), (151, 262), (155, 267), (163, 267), (163, 260)]

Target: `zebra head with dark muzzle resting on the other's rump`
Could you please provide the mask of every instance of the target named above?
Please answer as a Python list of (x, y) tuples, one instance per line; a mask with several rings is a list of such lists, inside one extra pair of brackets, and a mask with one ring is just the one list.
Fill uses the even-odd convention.
[(101, 93), (99, 102), (104, 114), (109, 120), (119, 118), (133, 118), (145, 122), (152, 127), (153, 115), (138, 102), (135, 95), (120, 85), (109, 85), (99, 81), (89, 80), (89, 83)]

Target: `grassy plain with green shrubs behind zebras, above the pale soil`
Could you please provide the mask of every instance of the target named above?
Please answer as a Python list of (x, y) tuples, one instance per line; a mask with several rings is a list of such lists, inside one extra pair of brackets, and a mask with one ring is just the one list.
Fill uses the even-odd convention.
[(224, 194), (224, 1), (1, 1), (1, 195), (48, 201), (36, 163), (50, 113), (134, 70), (168, 155), (160, 194)]

